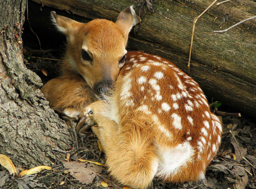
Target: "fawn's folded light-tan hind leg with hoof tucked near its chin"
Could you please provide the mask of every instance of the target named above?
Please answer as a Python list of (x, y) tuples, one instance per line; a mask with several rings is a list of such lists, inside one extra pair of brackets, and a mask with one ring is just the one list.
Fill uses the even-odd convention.
[(108, 107), (97, 101), (87, 106), (81, 115), (89, 125), (98, 124), (92, 129), (104, 149), (110, 174), (124, 185), (148, 187), (158, 168), (152, 130), (133, 123), (125, 126), (130, 129), (123, 130), (121, 125), (105, 117), (103, 111), (108, 111)]

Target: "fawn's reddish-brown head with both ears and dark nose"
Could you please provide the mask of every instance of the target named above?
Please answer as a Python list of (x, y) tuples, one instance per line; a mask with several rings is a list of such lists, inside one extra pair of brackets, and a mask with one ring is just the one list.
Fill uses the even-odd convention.
[(95, 19), (80, 23), (51, 12), (57, 29), (67, 37), (67, 55), (75, 72), (79, 73), (98, 97), (108, 92), (125, 62), (128, 35), (141, 21), (132, 7), (127, 7), (116, 22)]

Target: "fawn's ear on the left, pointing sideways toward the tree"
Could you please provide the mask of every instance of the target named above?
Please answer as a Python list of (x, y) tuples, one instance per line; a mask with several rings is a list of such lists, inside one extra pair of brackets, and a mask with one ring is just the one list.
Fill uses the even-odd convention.
[(51, 11), (52, 21), (55, 23), (56, 28), (61, 33), (65, 34), (68, 41), (74, 39), (75, 31), (80, 28), (82, 23), (67, 18), (65, 16), (57, 15), (55, 11)]

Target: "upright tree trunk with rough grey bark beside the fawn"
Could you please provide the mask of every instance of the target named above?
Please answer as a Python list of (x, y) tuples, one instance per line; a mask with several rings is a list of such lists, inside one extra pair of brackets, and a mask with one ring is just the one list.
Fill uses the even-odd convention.
[(21, 38), (26, 0), (2, 1), (0, 11), (0, 154), (15, 166), (63, 159), (72, 135), (38, 89), (40, 78), (23, 63)]

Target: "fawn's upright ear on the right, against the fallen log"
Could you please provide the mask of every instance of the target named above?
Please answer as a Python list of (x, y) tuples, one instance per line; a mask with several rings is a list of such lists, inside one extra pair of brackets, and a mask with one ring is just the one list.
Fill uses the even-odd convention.
[(127, 7), (122, 12), (119, 13), (116, 24), (124, 33), (124, 37), (127, 41), (129, 32), (133, 26), (137, 25), (141, 21), (140, 17), (136, 15), (133, 6)]

